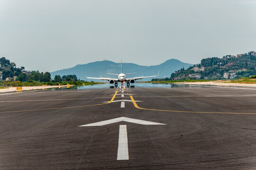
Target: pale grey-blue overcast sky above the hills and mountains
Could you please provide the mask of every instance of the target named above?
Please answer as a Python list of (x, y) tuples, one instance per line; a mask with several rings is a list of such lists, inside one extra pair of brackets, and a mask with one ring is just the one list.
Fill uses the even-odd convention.
[(256, 0), (0, 0), (0, 57), (52, 72), (256, 51)]

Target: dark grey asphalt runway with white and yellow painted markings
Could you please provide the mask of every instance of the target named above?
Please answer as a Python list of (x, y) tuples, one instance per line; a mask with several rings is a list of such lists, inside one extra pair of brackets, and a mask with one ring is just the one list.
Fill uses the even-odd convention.
[(256, 170), (253, 89), (70, 89), (0, 99), (0, 170)]

